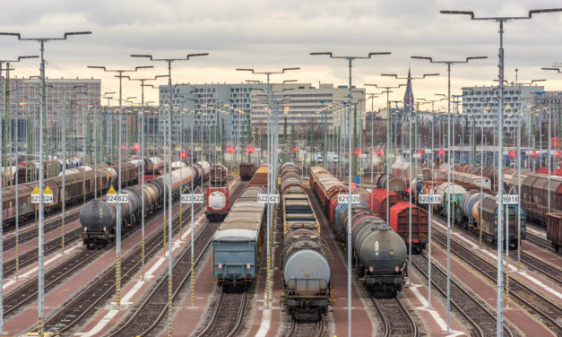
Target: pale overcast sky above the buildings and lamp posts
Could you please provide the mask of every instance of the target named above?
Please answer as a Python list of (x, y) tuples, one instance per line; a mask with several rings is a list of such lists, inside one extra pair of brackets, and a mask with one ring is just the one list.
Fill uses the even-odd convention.
[[(416, 98), (433, 99), (446, 93), (445, 65), (430, 65), (410, 56), (435, 59), (463, 59), (489, 56), (469, 65), (454, 65), (452, 90), (461, 86), (490, 84), (497, 79), (497, 23), (474, 22), (464, 15), (444, 15), (439, 10), (472, 10), (477, 16), (526, 16), (530, 9), (562, 7), (559, 0), (512, 0), (471, 2), (460, 0), (209, 0), (148, 1), (3, 0), (0, 30), (21, 32), (22, 37), (58, 37), (65, 31), (91, 30), (90, 36), (50, 42), (46, 48), (47, 74), (51, 78), (94, 77), (102, 79), (103, 91), (117, 91), (118, 83), (108, 73), (87, 69), (87, 65), (129, 68), (149, 65), (134, 59), (134, 53), (155, 57), (182, 57), (208, 52), (174, 65), (176, 82), (243, 82), (263, 80), (237, 67), (256, 71), (300, 66), (301, 70), (274, 77), (274, 82), (332, 82), (347, 84), (348, 73), (342, 60), (309, 56), (314, 51), (334, 55), (366, 56), (368, 52), (390, 51), (391, 56), (375, 56), (357, 61), (353, 83), (399, 82), (381, 73), (441, 73), (436, 78), (414, 82)], [(532, 20), (506, 24), (506, 79), (519, 81), (547, 79), (548, 90), (562, 90), (562, 74), (545, 72), (541, 66), (562, 61), (562, 13), (536, 14)], [(39, 45), (0, 37), (0, 59), (38, 55)], [(163, 63), (153, 70), (136, 73), (151, 77), (166, 73)], [(35, 60), (15, 65), (14, 75), (37, 74)], [(275, 81), (277, 80), (277, 81)], [(164, 80), (166, 81), (166, 80)], [(161, 83), (161, 81), (160, 81)], [(137, 82), (125, 82), (124, 94), (139, 96)], [(368, 89), (376, 92), (376, 88)], [(147, 100), (156, 100), (157, 91), (147, 89)], [(403, 88), (391, 99), (402, 99)], [(104, 103), (105, 104), (105, 103)], [(385, 99), (376, 99), (376, 107)]]

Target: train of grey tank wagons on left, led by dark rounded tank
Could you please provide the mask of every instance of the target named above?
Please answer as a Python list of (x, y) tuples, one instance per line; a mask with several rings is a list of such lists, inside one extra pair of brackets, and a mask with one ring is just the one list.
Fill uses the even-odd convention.
[[(123, 231), (133, 229), (141, 223), (142, 217), (155, 212), (162, 207), (164, 194), (168, 195), (171, 188), (172, 197), (177, 198), (181, 194), (182, 186), (189, 186), (193, 181), (199, 181), (208, 176), (208, 163), (198, 162), (197, 166), (178, 168), (166, 175), (151, 179), (141, 185), (126, 187), (121, 193), (128, 194), (129, 203), (107, 203), (107, 196), (91, 200), (84, 204), (80, 212), (80, 222), (84, 232), (82, 242), (89, 248), (91, 245), (107, 245), (115, 239), (117, 233), (117, 207), (121, 208), (121, 229)], [(136, 170), (134, 170), (136, 172)], [(171, 186), (169, 186), (171, 176)], [(143, 214), (144, 194), (144, 214)]]

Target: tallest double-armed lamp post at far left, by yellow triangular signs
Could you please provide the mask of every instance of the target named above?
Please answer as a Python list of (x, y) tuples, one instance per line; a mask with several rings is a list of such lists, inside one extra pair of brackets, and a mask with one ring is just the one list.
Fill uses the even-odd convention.
[[(43, 117), (46, 110), (46, 91), (45, 91), (45, 43), (55, 40), (64, 40), (67, 39), (69, 36), (72, 35), (84, 35), (84, 34), (91, 34), (91, 31), (71, 31), (65, 32), (63, 38), (23, 38), (20, 33), (9, 33), (9, 32), (0, 32), (0, 35), (12, 35), (17, 37), (19, 40), (23, 41), (34, 41), (39, 42), (39, 50), (41, 56), (41, 65), (40, 65), (40, 93), (39, 93), (39, 243), (38, 243), (38, 255), (39, 255), (39, 275), (38, 275), (38, 286), (39, 286), (39, 294), (38, 294), (38, 302), (39, 302), (39, 326), (38, 326), (38, 335), (39, 337), (43, 337), (43, 312), (45, 308), (44, 298), (44, 253), (43, 253), (43, 215), (44, 215), (44, 203), (43, 203), (43, 186), (44, 186), (44, 177), (43, 177)], [(1, 157), (1, 153), (0, 153)], [(1, 202), (1, 200), (0, 200)], [(2, 306), (0, 306), (2, 307)], [(0, 327), (0, 330), (4, 329), (3, 326)]]

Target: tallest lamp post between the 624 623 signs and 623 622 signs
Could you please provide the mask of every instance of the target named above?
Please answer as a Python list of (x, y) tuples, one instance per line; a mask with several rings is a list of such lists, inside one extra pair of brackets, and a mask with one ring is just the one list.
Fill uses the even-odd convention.
[[(170, 174), (168, 175), (168, 184), (172, 186), (172, 62), (187, 61), (190, 57), (194, 56), (208, 56), (209, 53), (187, 54), (185, 58), (153, 58), (151, 55), (131, 55), (132, 57), (147, 57), (153, 62), (164, 62), (168, 65), (168, 93), (169, 93), (169, 111), (168, 111), (168, 167)], [(166, 167), (164, 167), (166, 170)], [(166, 174), (166, 172), (164, 172)], [(203, 190), (202, 190), (203, 192)], [(191, 234), (191, 265), (193, 272), (194, 261), (194, 236)], [(168, 333), (172, 333), (172, 189), (168, 189)]]

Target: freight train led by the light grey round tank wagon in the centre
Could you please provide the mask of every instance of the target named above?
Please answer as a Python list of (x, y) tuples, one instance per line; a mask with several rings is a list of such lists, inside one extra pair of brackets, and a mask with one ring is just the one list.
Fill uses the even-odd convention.
[(298, 314), (325, 314), (333, 296), (329, 252), (320, 238), (320, 223), (307, 189), (293, 163), (281, 166), (281, 301), (293, 319)]

